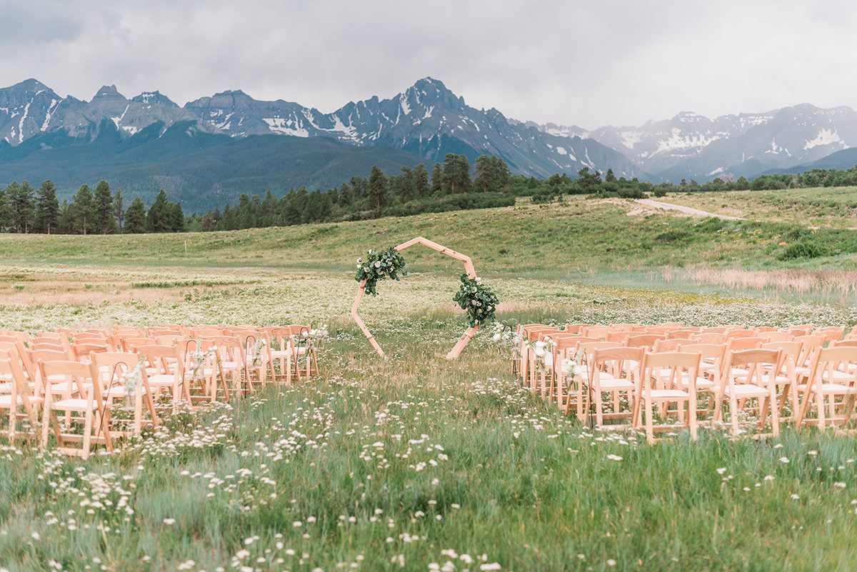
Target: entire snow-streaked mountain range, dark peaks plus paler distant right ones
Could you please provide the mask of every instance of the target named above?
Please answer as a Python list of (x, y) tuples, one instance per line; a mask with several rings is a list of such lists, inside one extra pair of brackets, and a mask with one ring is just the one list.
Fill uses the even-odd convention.
[[(164, 94), (126, 98), (103, 86), (90, 100), (38, 80), (0, 88), (0, 181), (51, 178), (70, 192), (106, 178), (144, 198), (211, 206), (241, 192), (334, 186), (372, 164), (387, 172), (463, 153), (504, 158), (527, 176), (583, 167), (653, 181), (756, 176), (848, 165), (857, 112), (800, 104), (710, 119), (682, 111), (643, 125), (596, 129), (536, 124), (470, 107), (427, 77), (392, 98), (323, 113), (241, 90), (179, 105)], [(826, 163), (825, 163), (826, 162)]]

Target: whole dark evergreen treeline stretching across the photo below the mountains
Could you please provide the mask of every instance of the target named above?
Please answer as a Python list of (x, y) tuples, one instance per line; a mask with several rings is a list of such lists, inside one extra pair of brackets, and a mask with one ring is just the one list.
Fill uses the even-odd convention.
[(655, 184), (616, 177), (612, 170), (602, 177), (586, 167), (574, 179), (566, 174), (547, 179), (512, 175), (502, 158), (489, 155), (476, 158), (471, 170), (464, 155), (451, 153), (442, 163), (435, 163), (430, 173), (424, 164), (403, 167), (393, 176), (373, 167), (369, 178), (352, 176), (338, 188), (293, 188), (282, 197), (271, 192), (264, 198), (242, 194), (235, 204), (189, 217), (185, 217), (181, 203), (168, 200), (163, 190), (150, 206), (137, 196), (126, 208), (122, 191), (113, 192), (106, 181), (101, 181), (94, 192), (82, 185), (61, 205), (51, 181), (38, 189), (28, 182), (13, 182), (0, 189), (0, 231), (91, 235), (235, 230), (511, 206), (518, 196), (548, 202), (566, 194), (641, 199), (647, 194), (657, 197), (674, 192), (846, 186), (857, 186), (857, 166), (763, 175), (752, 182), (740, 176), (734, 181), (717, 178), (699, 184), (682, 179), (679, 184)]

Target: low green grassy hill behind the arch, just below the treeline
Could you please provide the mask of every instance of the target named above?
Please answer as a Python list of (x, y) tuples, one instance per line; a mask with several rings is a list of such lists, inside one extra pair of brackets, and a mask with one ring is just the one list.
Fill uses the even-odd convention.
[[(699, 200), (693, 204), (722, 210), (715, 209), (714, 202), (732, 200), (733, 195), (740, 196), (706, 194), (680, 200)], [(768, 195), (758, 196), (764, 199)], [(838, 200), (838, 196), (831, 195), (830, 200)], [(7, 264), (266, 266), (343, 271), (351, 270), (354, 259), (369, 247), (385, 248), (423, 235), (468, 253), (479, 271), (507, 275), (569, 276), (694, 265), (854, 268), (857, 233), (846, 228), (841, 219), (827, 228), (809, 229), (798, 217), (779, 217), (779, 211), (763, 200), (758, 205), (764, 206), (759, 207), (758, 220), (746, 221), (676, 216), (632, 200), (572, 197), (564, 204), (519, 201), (516, 206), (470, 212), (216, 233), (0, 235), (0, 257)], [(786, 256), (794, 244), (812, 244), (822, 250), (813, 258)], [(409, 251), (408, 260), (415, 270), (454, 266), (445, 257), (421, 248)]]

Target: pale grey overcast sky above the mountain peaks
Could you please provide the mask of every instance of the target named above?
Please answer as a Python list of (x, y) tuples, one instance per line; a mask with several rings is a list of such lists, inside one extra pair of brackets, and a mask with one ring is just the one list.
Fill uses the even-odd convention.
[(857, 107), (857, 3), (0, 0), (0, 85), (225, 89), (331, 111), (430, 75), (536, 122)]

